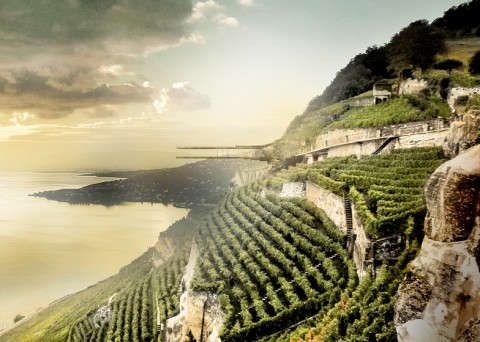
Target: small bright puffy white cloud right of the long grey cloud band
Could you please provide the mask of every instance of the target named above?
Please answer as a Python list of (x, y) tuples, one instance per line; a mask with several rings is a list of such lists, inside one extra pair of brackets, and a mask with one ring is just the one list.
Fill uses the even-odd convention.
[(167, 111), (191, 112), (209, 108), (210, 97), (195, 90), (189, 82), (174, 83), (170, 88), (163, 88), (153, 106), (159, 113)]

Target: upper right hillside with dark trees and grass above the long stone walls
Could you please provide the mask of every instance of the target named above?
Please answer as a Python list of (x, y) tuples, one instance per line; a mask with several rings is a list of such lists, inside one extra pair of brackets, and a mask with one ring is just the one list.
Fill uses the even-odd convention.
[[(473, 0), (447, 10), (431, 24), (414, 21), (387, 44), (369, 47), (353, 57), (324, 92), (292, 120), (276, 141), (277, 149), (285, 152), (309, 146), (319, 134), (334, 128), (379, 127), (449, 117), (450, 110), (442, 101), (448, 89), (480, 86), (479, 74), (469, 71), (469, 63), (480, 52), (479, 8), (480, 0)], [(442, 69), (441, 62), (451, 60), (460, 67)], [(390, 83), (396, 94), (399, 82), (410, 77), (426, 80), (428, 89), (380, 107), (358, 108), (358, 102), (373, 99), (376, 82)]]

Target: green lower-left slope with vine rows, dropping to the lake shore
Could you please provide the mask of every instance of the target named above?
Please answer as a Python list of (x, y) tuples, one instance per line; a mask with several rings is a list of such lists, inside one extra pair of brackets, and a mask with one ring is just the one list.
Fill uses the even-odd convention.
[[(0, 341), (161, 341), (157, 313), (163, 324), (179, 310), (178, 290), (195, 233), (193, 223), (205, 215), (204, 208), (192, 209), (162, 233), (177, 246), (164, 264), (156, 266), (163, 255), (149, 248), (116, 275), (25, 318), (23, 324), (0, 335)], [(101, 315), (95, 315), (110, 298), (111, 319), (102, 323)]]

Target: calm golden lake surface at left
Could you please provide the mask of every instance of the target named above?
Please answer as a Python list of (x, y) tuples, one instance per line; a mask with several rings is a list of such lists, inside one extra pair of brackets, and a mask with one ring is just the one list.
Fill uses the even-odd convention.
[(28, 194), (109, 178), (0, 172), (0, 329), (128, 264), (187, 210), (161, 204), (70, 205)]

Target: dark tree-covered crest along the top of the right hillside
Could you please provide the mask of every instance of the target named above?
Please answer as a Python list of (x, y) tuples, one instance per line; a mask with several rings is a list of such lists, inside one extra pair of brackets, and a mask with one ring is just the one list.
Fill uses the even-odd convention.
[(341, 69), (324, 92), (313, 98), (305, 113), (316, 111), (370, 90), (385, 78), (396, 78), (401, 68), (427, 69), (444, 51), (447, 38), (480, 36), (480, 1), (452, 7), (431, 24), (418, 20), (395, 34), (383, 46), (369, 47)]

